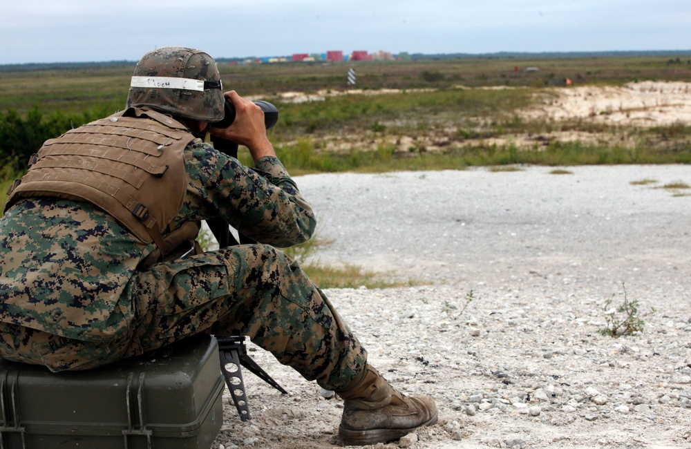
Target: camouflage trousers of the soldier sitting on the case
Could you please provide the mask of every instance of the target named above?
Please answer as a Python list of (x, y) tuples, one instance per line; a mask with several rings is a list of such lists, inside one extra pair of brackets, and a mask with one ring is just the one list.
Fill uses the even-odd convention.
[[(153, 265), (129, 287), (138, 318), (122, 341), (73, 341), (5, 326), (3, 346), (12, 341), (17, 349), (15, 356), (5, 357), (53, 363), (53, 370), (86, 369), (202, 332), (245, 335), (330, 390), (348, 385), (367, 359), (321, 290), (296, 263), (267, 245), (229, 247)], [(37, 348), (44, 353), (32, 354)]]

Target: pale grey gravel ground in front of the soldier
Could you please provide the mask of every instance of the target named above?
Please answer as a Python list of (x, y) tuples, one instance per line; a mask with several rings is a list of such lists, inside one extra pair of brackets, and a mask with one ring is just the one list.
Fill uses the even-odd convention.
[[(437, 400), (437, 425), (381, 447), (691, 447), (691, 196), (661, 188), (691, 167), (552, 170), (296, 178), (323, 263), (418, 283), (326, 291), (372, 365)], [(645, 329), (604, 336), (624, 289)], [(337, 444), (342, 402), (249, 349), (289, 394), (245, 372), (253, 419), (227, 406), (215, 447)]]

